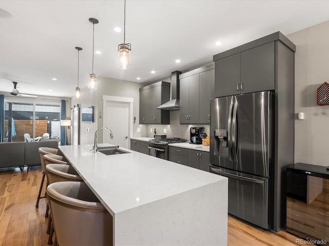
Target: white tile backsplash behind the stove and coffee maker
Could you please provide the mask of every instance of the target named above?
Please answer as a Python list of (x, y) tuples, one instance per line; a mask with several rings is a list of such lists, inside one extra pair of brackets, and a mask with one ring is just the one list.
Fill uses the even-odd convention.
[[(210, 133), (209, 125), (180, 125), (179, 110), (171, 110), (170, 125), (139, 125), (138, 128), (140, 128), (140, 132), (134, 134), (134, 136), (153, 137), (153, 131), (155, 128), (157, 134), (167, 134), (167, 137), (178, 137), (178, 138), (184, 138), (186, 140), (189, 140), (191, 127), (204, 127), (205, 132), (208, 135)], [(164, 129), (166, 129), (167, 133), (163, 132)]]

